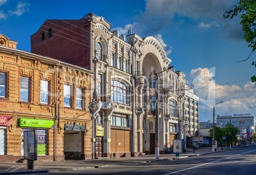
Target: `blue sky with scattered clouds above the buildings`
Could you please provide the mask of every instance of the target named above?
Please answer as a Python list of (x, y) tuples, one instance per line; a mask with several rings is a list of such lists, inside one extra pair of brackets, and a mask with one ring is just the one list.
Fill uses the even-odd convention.
[[(186, 75), (199, 96), (199, 121), (216, 115), (256, 116), (255, 74), (239, 18), (224, 19), (236, 0), (0, 0), (0, 34), (31, 51), (30, 37), (46, 19), (78, 20), (92, 12), (127, 34), (132, 26), (141, 37), (153, 36), (166, 49), (171, 65)], [(220, 103), (223, 101), (222, 103)], [(215, 118), (216, 119), (216, 118)]]

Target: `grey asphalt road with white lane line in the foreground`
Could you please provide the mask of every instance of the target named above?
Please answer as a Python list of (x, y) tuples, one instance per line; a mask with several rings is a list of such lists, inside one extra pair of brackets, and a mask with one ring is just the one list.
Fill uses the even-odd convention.
[(146, 163), (112, 162), (108, 167), (45, 174), (256, 174), (256, 146), (184, 159)]

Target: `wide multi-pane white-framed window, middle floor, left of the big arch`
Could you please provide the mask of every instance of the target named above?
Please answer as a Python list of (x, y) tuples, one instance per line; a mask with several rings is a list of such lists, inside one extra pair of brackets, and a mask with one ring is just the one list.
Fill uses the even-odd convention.
[(129, 101), (128, 87), (119, 81), (111, 81), (111, 101), (127, 105)]

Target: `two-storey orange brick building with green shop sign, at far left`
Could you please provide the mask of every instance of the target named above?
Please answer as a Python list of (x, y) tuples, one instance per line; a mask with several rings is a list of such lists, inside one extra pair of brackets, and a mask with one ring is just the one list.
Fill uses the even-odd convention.
[(24, 156), (36, 129), (38, 160), (91, 158), (92, 71), (17, 49), (0, 35), (0, 162)]

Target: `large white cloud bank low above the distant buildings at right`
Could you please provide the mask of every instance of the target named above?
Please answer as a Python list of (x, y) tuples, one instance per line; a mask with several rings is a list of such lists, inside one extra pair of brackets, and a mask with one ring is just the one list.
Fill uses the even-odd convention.
[[(199, 108), (204, 110), (200, 117), (206, 119), (212, 116), (213, 105), (220, 101), (218, 113), (220, 115), (233, 115), (234, 113), (252, 113), (256, 115), (256, 84), (247, 82), (243, 86), (239, 82), (216, 84), (214, 81), (215, 68), (196, 68), (188, 74), (188, 81), (193, 84), (194, 91), (203, 103)], [(205, 113), (208, 110), (208, 114)], [(203, 116), (202, 116), (203, 115)], [(208, 115), (208, 116), (205, 116)]]

